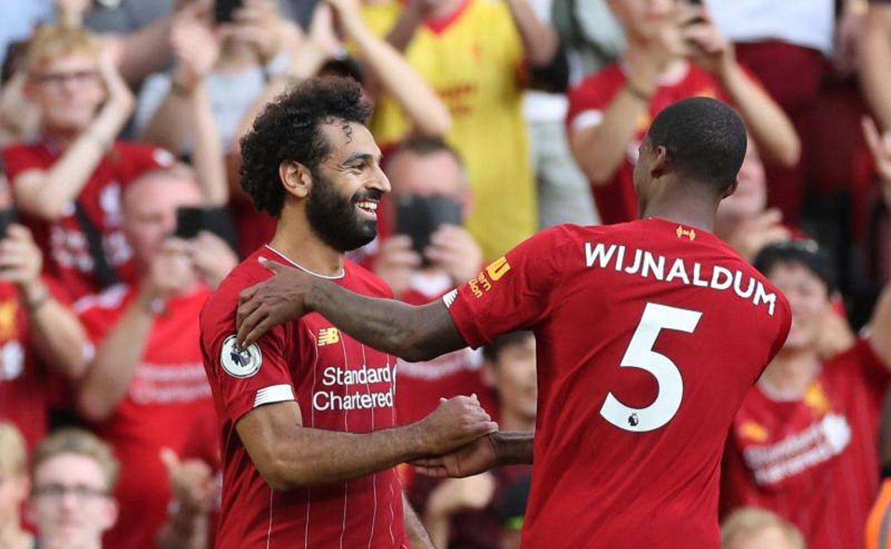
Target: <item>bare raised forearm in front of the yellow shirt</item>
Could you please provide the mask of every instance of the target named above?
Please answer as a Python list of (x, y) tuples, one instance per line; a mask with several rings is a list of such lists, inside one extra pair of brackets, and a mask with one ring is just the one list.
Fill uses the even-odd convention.
[(396, 49), (360, 27), (350, 35), (363, 52), (363, 58), (380, 87), (390, 93), (414, 126), (425, 135), (441, 136), (452, 129), (452, 117), (446, 105)]

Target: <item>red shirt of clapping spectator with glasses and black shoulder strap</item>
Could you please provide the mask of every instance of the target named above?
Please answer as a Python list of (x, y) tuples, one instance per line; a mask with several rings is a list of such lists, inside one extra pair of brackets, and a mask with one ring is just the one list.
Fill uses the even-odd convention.
[[(6, 174), (12, 184), (28, 170), (46, 170), (63, 150), (49, 141), (12, 145), (3, 150)], [(164, 149), (116, 141), (96, 166), (78, 201), (102, 234), (105, 256), (122, 282), (135, 281), (133, 250), (121, 230), (121, 195), (127, 183), (140, 174), (172, 166), (175, 158)], [(94, 277), (93, 256), (78, 224), (74, 205), (57, 221), (23, 215), (22, 222), (34, 234), (45, 256), (44, 271), (58, 279), (74, 298), (92, 295), (102, 288)]]

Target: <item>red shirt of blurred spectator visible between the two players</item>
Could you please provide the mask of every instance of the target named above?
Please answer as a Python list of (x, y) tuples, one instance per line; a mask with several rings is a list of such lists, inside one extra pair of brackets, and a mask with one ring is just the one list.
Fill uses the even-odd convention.
[[(448, 278), (446, 277), (446, 280)], [(445, 286), (421, 287), (415, 284), (399, 301), (411, 305), (429, 303), (451, 290), (451, 281)], [(439, 405), (439, 399), (451, 399), (458, 395), (476, 393), (483, 408), (495, 417), (495, 393), (486, 383), (480, 372), (482, 356), (478, 351), (464, 348), (437, 357), (427, 362), (398, 361), (396, 381), (396, 408), (399, 424), (411, 424), (428, 416)]]

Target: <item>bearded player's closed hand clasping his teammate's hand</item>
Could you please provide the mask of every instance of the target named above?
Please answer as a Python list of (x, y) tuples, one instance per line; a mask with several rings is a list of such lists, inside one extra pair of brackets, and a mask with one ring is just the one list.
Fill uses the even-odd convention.
[(441, 456), (477, 440), (490, 432), (498, 431), (479, 405), (477, 395), (441, 399), (439, 406), (429, 416), (418, 422), (421, 446), (425, 454)]

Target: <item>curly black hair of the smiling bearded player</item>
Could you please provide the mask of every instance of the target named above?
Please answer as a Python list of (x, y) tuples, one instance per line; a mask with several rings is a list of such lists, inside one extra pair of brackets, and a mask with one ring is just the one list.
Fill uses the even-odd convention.
[(362, 87), (350, 78), (311, 78), (282, 93), (241, 138), (241, 188), (257, 210), (279, 217), (282, 162), (295, 160), (315, 173), (331, 152), (321, 126), (338, 120), (365, 125), (371, 114)]

